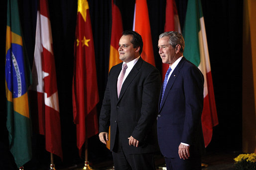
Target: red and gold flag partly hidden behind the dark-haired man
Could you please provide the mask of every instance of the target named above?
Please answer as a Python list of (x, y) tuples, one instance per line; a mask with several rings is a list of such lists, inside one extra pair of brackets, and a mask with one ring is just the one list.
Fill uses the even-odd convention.
[[(115, 0), (116, 2), (116, 0)], [(109, 60), (109, 71), (118, 63), (122, 62), (119, 59), (119, 40), (123, 33), (123, 24), (122, 24), (122, 15), (115, 4), (114, 0), (112, 0), (112, 29), (111, 29), (111, 43), (110, 43), (110, 60)], [(107, 141), (107, 148), (110, 149), (110, 129), (109, 129), (109, 140)]]

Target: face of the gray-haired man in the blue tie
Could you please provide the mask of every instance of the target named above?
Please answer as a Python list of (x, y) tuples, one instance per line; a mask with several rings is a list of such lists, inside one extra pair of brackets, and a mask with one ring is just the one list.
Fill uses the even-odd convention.
[(158, 49), (163, 63), (172, 64), (176, 60), (175, 49), (169, 44), (169, 37), (165, 36), (158, 40)]

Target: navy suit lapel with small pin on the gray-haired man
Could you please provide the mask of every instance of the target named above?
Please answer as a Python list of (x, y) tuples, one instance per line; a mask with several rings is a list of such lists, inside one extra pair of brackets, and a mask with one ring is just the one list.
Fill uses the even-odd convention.
[[(182, 68), (183, 63), (184, 63), (185, 60), (186, 60), (185, 57), (182, 57), (182, 59), (180, 60), (180, 62), (176, 66), (176, 68), (173, 70), (173, 72), (172, 72), (172, 74), (171, 74), (171, 76), (170, 76), (170, 78), (168, 80), (168, 83), (166, 85), (166, 88), (165, 88), (165, 91), (164, 91), (164, 95), (163, 95), (162, 105), (159, 106), (159, 112), (161, 111), (162, 106), (164, 105), (164, 102), (165, 102), (165, 100), (167, 98), (168, 92), (171, 90), (172, 85), (173, 85), (175, 79), (179, 76), (179, 70)], [(161, 93), (160, 94), (162, 94), (162, 89), (161, 89)], [(160, 105), (160, 103), (161, 103), (161, 100), (159, 100), (159, 105)]]

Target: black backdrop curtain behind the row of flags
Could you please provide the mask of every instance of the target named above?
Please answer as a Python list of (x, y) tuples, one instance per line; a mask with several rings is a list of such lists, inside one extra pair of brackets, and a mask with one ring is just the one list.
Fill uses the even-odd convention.
[[(111, 37), (111, 0), (88, 0), (94, 36), (98, 88), (101, 109), (107, 83), (108, 61)], [(132, 29), (135, 0), (118, 3), (123, 18), (124, 30)], [(153, 50), (156, 67), (161, 70), (158, 55), (158, 35), (163, 32), (165, 22), (165, 0), (147, 0), (151, 25)], [(181, 27), (183, 28), (187, 0), (176, 0)], [(30, 63), (32, 63), (35, 38), (36, 0), (19, 0), (20, 19), (25, 45)], [(8, 151), (6, 130), (4, 63), (6, 0), (1, 1), (0, 32), (0, 167), (14, 169), (13, 158)], [(207, 152), (241, 151), (242, 149), (242, 0), (202, 0), (206, 34), (211, 61), (213, 85), (219, 125), (213, 129), (213, 138)], [(62, 129), (62, 148), (64, 160), (55, 158), (56, 166), (82, 163), (76, 148), (76, 130), (72, 113), (72, 76), (73, 53), (77, 14), (77, 0), (49, 0), (49, 12), (52, 27), (53, 50), (56, 62), (57, 85), (59, 91), (60, 118)], [(121, 24), (121, 23), (120, 23)], [(44, 149), (44, 137), (33, 134), (33, 159), (26, 165), (31, 170), (40, 166), (48, 167), (50, 154)], [(89, 161), (92, 163), (111, 159), (111, 154), (98, 136), (89, 139)]]

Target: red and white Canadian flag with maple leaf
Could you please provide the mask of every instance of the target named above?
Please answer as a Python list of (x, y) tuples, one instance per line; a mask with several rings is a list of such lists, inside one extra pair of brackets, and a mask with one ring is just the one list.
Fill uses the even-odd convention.
[(47, 0), (40, 0), (37, 11), (31, 90), (32, 98), (37, 101), (36, 107), (31, 107), (37, 108), (39, 133), (45, 135), (45, 148), (62, 159), (59, 99)]

